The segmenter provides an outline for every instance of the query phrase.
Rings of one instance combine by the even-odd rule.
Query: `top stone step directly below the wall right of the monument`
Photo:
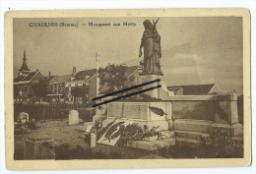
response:
[[[174,130],[209,133],[213,123],[206,120],[177,119],[174,121]]]

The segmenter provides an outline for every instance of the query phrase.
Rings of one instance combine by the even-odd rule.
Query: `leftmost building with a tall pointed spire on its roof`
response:
[[[19,70],[18,76],[14,79],[14,101],[30,102],[34,92],[32,87],[38,84],[41,78],[43,77],[38,70],[31,71],[29,69],[26,51],[24,50],[23,65]]]

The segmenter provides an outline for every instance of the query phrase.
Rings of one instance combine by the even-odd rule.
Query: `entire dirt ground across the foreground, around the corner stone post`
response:
[[[219,148],[213,146],[174,145],[160,150],[148,151],[130,147],[113,147],[109,145],[96,145],[90,147],[89,140],[82,137],[78,128],[84,128],[83,123],[75,126],[68,125],[68,120],[48,120],[36,124],[36,129],[28,135],[15,136],[14,159],[24,159],[24,140],[28,137],[50,137],[55,141],[55,159],[137,159],[137,158],[219,158],[242,157],[242,149],[238,155],[224,156]],[[221,154],[221,155],[220,155]]]

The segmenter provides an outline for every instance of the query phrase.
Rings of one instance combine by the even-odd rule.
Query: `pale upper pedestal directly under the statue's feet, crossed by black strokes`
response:
[[[148,94],[155,98],[160,98],[162,100],[169,100],[169,96],[173,96],[174,93],[172,91],[169,91],[166,87],[166,80],[161,75],[140,75],[137,77],[137,84],[144,84],[150,81],[154,81],[160,79],[159,83],[154,83],[145,87],[142,87],[143,89],[149,88],[149,87],[156,87],[158,85],[161,85],[160,88],[156,88],[147,92],[144,92],[145,94]]]

